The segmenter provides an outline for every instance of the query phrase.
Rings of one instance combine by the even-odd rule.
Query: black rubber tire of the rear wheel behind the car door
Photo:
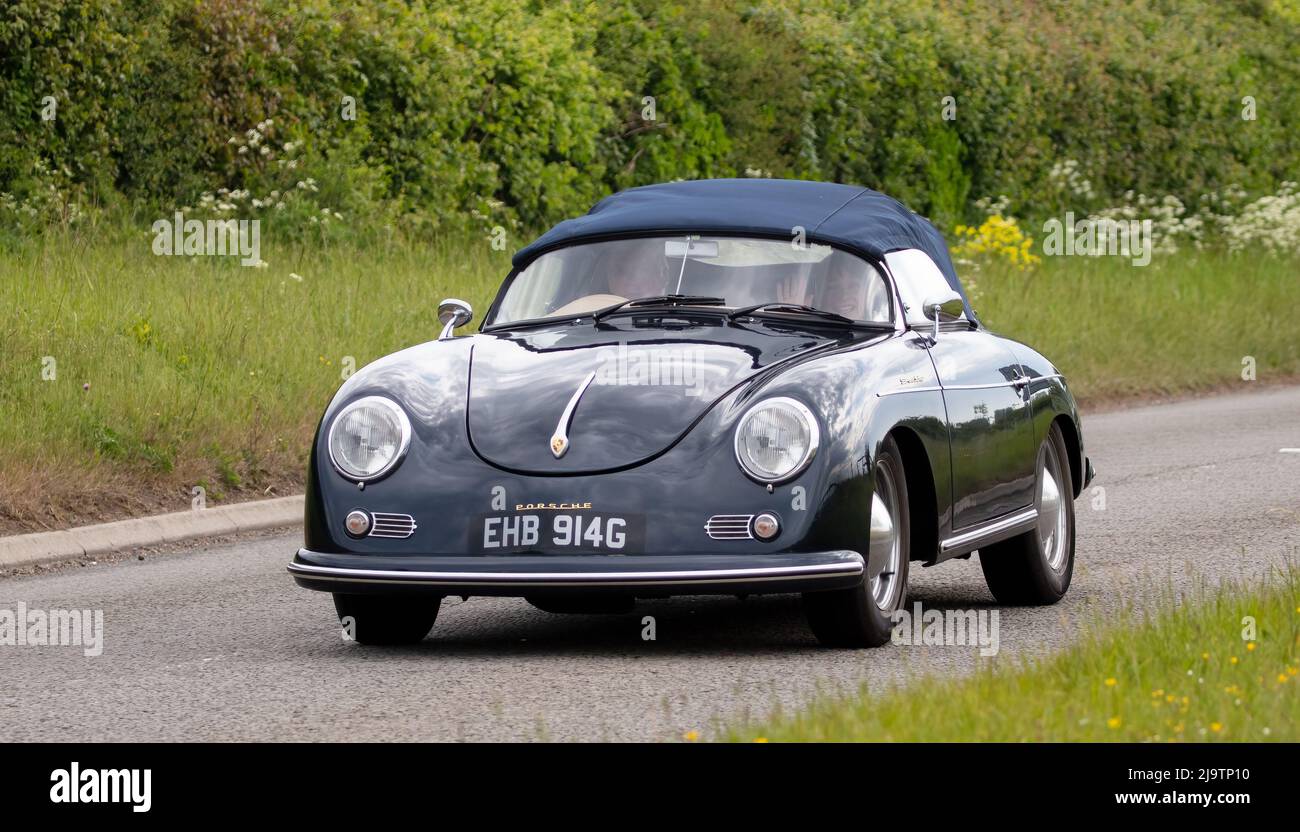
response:
[[[1034,486],[1034,507],[1039,512],[1044,511],[1045,472],[1056,482],[1058,516],[1063,519],[1065,529],[1061,532],[1060,525],[1048,523],[1040,514],[1040,523],[1034,529],[1000,543],[980,546],[979,564],[998,603],[1052,604],[1061,601],[1070,589],[1070,578],[1074,576],[1074,480],[1065,437],[1056,422],[1039,447]],[[1052,530],[1045,532],[1044,524],[1052,526]],[[1065,543],[1063,552],[1056,549],[1057,536]],[[1057,552],[1056,563],[1049,551]]]

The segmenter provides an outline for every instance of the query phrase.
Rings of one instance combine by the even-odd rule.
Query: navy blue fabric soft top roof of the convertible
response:
[[[606,196],[581,217],[566,220],[515,252],[516,269],[542,252],[618,237],[724,234],[790,239],[802,228],[809,242],[883,260],[918,248],[962,295],[948,244],[924,217],[871,188],[801,179],[696,179],[647,185]]]

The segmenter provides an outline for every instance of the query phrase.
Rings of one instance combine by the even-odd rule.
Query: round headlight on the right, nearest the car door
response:
[[[760,402],[736,425],[736,459],[759,482],[783,482],[803,471],[816,443],[816,419],[794,399]]]

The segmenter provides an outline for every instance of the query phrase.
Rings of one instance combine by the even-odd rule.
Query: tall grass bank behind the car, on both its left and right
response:
[[[242,268],[155,256],[142,226],[0,255],[0,530],[179,510],[195,485],[212,499],[299,488],[347,356],[360,368],[436,337],[445,296],[481,315],[510,268],[486,238],[382,233],[264,244],[270,265]],[[1297,270],[1197,254],[1147,268],[1048,259],[979,274],[976,306],[1086,400],[1196,390],[1238,380],[1248,355],[1260,378],[1300,372]]]

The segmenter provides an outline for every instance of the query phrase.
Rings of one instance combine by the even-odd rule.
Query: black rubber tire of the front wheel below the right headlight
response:
[[[898,534],[898,564],[890,580],[897,584],[881,608],[872,593],[871,581],[863,578],[853,589],[803,593],[803,614],[816,640],[828,647],[879,647],[893,632],[893,614],[907,603],[907,566],[911,555],[911,524],[907,514],[907,480],[902,454],[893,437],[887,437],[876,460],[876,480],[881,471],[890,477],[897,498],[894,528]],[[866,512],[863,512],[866,514]]]

